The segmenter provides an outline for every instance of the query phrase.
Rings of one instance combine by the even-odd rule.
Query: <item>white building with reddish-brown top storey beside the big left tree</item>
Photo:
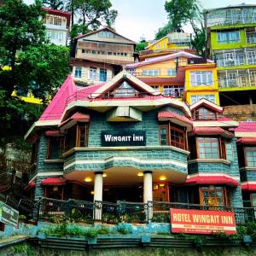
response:
[[[67,45],[70,28],[71,14],[55,9],[44,9],[47,14],[44,19],[46,36],[50,43],[57,45]]]

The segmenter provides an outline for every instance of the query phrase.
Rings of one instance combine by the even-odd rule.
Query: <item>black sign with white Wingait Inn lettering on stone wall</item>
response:
[[[145,131],[102,131],[102,147],[146,146]]]

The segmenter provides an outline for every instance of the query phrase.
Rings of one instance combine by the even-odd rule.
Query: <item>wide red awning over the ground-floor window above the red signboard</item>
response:
[[[228,185],[237,187],[238,182],[235,178],[222,173],[200,173],[195,175],[188,175],[185,182],[186,185]]]

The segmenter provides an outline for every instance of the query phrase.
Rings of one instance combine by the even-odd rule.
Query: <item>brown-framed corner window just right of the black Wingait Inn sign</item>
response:
[[[176,148],[186,148],[185,132],[177,127],[160,125],[160,145],[171,145]]]

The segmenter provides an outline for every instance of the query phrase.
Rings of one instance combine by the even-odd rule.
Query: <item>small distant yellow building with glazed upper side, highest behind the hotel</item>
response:
[[[191,34],[171,32],[164,38],[154,40],[152,43],[148,44],[146,49],[139,52],[139,60],[144,61],[146,58],[168,55],[179,50],[195,53],[195,49],[191,49]]]

